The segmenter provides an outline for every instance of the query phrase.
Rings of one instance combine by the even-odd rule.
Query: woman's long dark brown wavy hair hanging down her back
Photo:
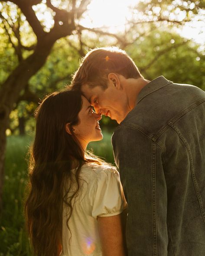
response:
[[[84,154],[72,133],[72,126],[79,123],[81,106],[81,93],[64,90],[46,96],[35,112],[36,136],[30,149],[25,215],[33,251],[37,256],[59,255],[63,203],[68,207],[68,226],[72,200],[79,190],[81,166],[86,162],[102,162],[97,157]],[[72,134],[65,130],[67,123],[70,123]],[[75,175],[72,169],[76,169]],[[77,188],[70,196],[69,188],[74,182]]]

